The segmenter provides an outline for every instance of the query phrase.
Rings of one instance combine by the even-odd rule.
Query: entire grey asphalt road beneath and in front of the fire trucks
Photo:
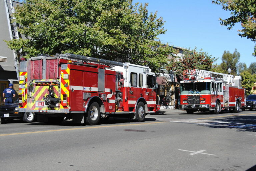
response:
[[[0,124],[0,170],[256,170],[256,111]]]

